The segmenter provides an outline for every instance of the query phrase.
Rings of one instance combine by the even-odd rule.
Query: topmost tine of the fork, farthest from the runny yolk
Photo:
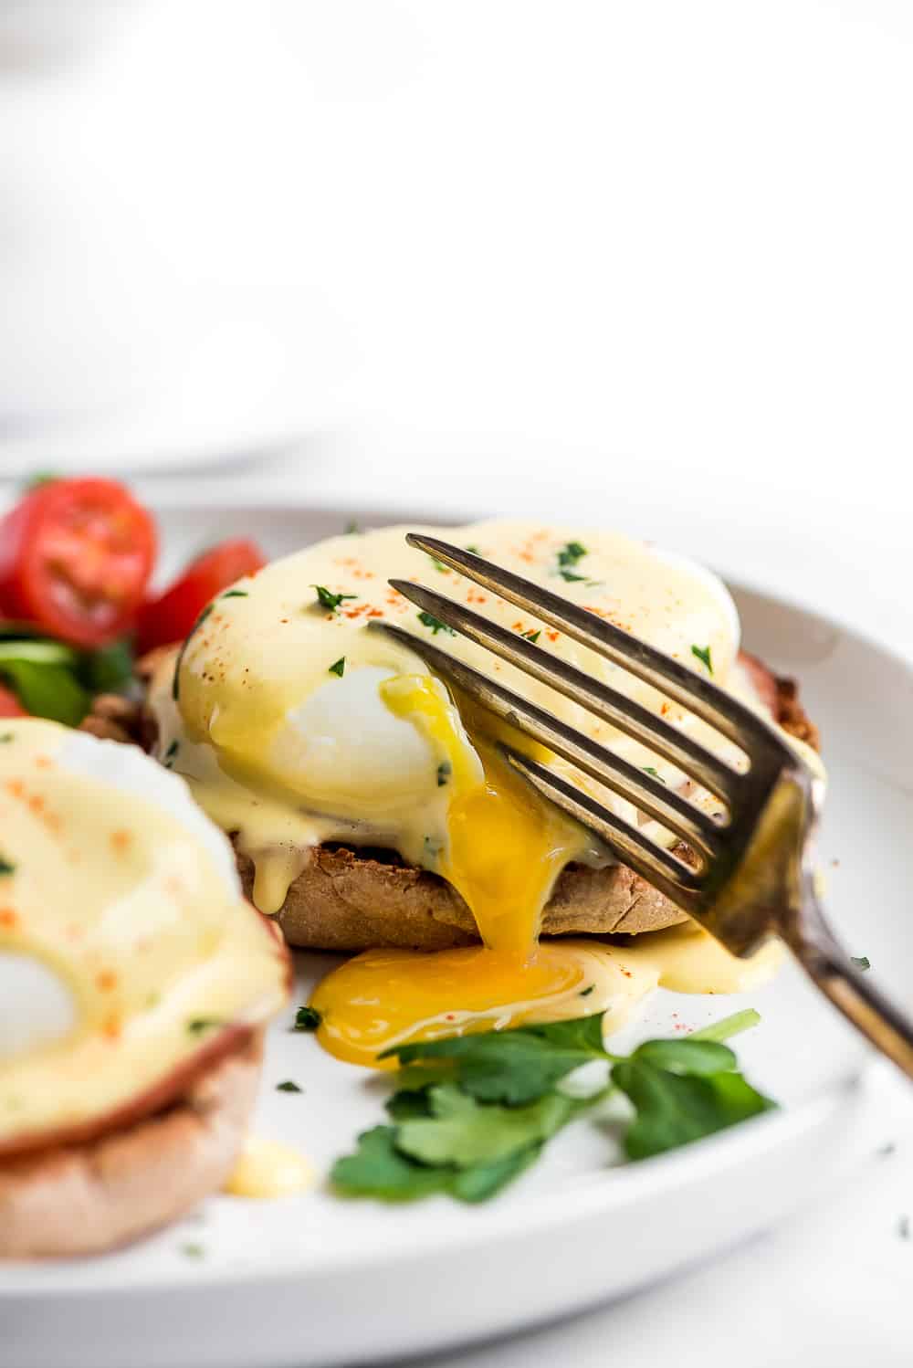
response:
[[[768,739],[764,721],[738,699],[718,688],[712,680],[701,679],[679,661],[671,659],[636,636],[629,636],[614,622],[605,622],[596,617],[589,609],[570,603],[560,595],[552,594],[551,590],[543,588],[541,584],[533,584],[530,580],[514,575],[513,570],[504,570],[472,551],[451,546],[450,542],[441,542],[420,532],[409,532],[406,540],[420,551],[425,551],[441,564],[450,565],[451,569],[466,575],[492,594],[515,603],[517,607],[533,611],[543,622],[548,622],[560,632],[567,632],[582,646],[588,646],[612,663],[637,674],[660,694],[674,698],[689,713],[697,713],[737,746],[748,748],[753,740]]]

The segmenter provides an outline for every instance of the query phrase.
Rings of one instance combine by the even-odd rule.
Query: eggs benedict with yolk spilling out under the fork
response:
[[[364,1063],[421,1034],[629,1001],[630,955],[540,936],[640,934],[682,922],[529,791],[499,757],[496,724],[451,696],[420,648],[379,624],[407,628],[417,647],[433,640],[693,802],[716,804],[610,724],[417,613],[391,577],[433,581],[741,759],[634,676],[407,546],[406,531],[333,538],[239,580],[163,665],[149,699],[159,758],[232,836],[256,906],[277,917],[291,944],[366,951],[331,974],[313,1003],[323,1042]],[[611,532],[515,521],[424,531],[563,594],[776,715],[776,684],[741,657],[733,599],[703,568]],[[596,781],[575,770],[573,778],[641,821]],[[660,978],[645,970],[648,986]]]

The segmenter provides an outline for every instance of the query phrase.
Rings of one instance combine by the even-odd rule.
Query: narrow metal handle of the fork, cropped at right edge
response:
[[[828,926],[813,886],[780,934],[805,973],[883,1055],[913,1078],[913,1021],[850,960]]]

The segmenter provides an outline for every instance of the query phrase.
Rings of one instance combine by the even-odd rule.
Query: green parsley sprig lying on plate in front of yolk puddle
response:
[[[359,1135],[355,1152],[333,1164],[331,1182],[340,1193],[387,1201],[431,1193],[484,1201],[610,1093],[623,1093],[633,1108],[622,1135],[629,1159],[690,1144],[775,1105],[738,1073],[723,1044],[757,1021],[757,1012],[737,1012],[686,1037],[648,1040],[630,1055],[605,1049],[601,1014],[400,1045],[387,1051],[400,1066],[387,1101],[392,1124]],[[562,1086],[593,1062],[608,1070],[596,1090],[581,1097]]]

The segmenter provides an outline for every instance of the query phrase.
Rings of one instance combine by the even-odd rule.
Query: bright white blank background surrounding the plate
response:
[[[0,85],[0,469],[112,413],[146,465],[282,445],[260,492],[615,521],[913,653],[913,5],[145,0],[45,67]],[[828,1211],[446,1363],[909,1363],[884,1096]]]

